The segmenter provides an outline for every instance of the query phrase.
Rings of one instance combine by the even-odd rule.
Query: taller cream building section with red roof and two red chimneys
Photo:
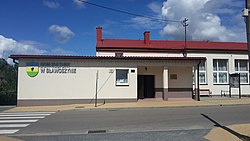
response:
[[[205,57],[206,61],[201,61],[199,65],[201,95],[229,94],[229,75],[234,73],[240,74],[241,94],[250,94],[246,43],[187,41],[185,46],[184,41],[150,40],[150,32],[144,33],[144,40],[103,39],[102,28],[98,27],[96,55]],[[182,68],[173,68],[173,72],[179,70]],[[194,70],[195,68],[193,73]],[[169,72],[169,75],[173,72]],[[181,83],[179,84],[181,86]],[[238,89],[231,90],[232,95],[239,94]]]

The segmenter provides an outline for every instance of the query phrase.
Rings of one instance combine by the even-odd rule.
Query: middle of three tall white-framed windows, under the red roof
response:
[[[228,83],[228,67],[226,59],[213,60],[213,82],[215,84]]]

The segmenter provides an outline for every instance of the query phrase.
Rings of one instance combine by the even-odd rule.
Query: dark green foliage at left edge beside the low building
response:
[[[16,104],[17,67],[0,59],[0,105]]]

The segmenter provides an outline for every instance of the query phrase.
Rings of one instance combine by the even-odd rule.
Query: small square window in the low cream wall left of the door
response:
[[[116,85],[128,85],[128,69],[116,70]]]

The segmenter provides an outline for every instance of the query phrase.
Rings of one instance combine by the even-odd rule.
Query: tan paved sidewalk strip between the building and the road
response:
[[[95,107],[93,104],[71,104],[57,106],[25,106],[15,107],[5,112],[34,112],[34,111],[63,111],[76,109],[107,109],[107,108],[154,108],[154,107],[197,107],[197,106],[223,106],[249,104],[250,98],[201,98],[201,101],[143,101],[132,103],[98,103]]]

